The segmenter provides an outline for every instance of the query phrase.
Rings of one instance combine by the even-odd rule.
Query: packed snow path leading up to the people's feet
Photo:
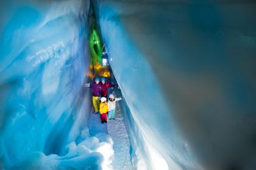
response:
[[[91,135],[99,133],[108,133],[113,140],[113,149],[115,151],[112,167],[115,170],[132,169],[130,158],[130,140],[124,125],[123,116],[119,104],[116,102],[115,120],[108,120],[108,123],[101,123],[99,114],[91,114],[89,130]]]

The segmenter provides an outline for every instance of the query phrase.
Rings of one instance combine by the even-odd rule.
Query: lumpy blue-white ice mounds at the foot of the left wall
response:
[[[42,152],[29,152],[13,162],[10,169],[112,169],[110,163],[113,155],[113,141],[107,134],[90,137],[84,129],[79,137],[80,143],[74,141],[66,147],[66,154],[44,155]]]

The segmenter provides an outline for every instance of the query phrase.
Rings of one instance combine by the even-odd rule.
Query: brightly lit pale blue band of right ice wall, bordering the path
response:
[[[132,143],[133,166],[137,169],[194,167],[194,157],[169,114],[171,110],[155,73],[121,20],[123,13],[131,13],[130,19],[136,18],[132,15],[134,7],[125,3],[126,9],[118,9],[115,3],[97,1],[94,7],[112,71],[126,101],[124,118]]]

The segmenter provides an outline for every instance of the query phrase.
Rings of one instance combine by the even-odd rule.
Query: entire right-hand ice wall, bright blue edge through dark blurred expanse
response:
[[[138,168],[165,165],[157,153],[169,169],[254,169],[255,3],[94,6],[130,110]]]

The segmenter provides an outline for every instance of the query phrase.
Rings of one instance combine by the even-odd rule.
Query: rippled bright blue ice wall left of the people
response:
[[[0,167],[88,125],[89,1],[0,2]]]

